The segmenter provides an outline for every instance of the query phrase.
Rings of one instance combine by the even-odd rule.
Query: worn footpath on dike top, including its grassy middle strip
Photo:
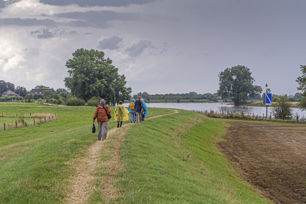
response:
[[[178,113],[178,110],[171,110],[173,113]],[[169,115],[169,113],[152,116],[145,120],[165,115]],[[89,199],[94,193],[102,196],[101,200],[106,202],[116,197],[118,192],[112,185],[112,181],[114,175],[118,173],[121,162],[121,144],[125,139],[125,133],[131,125],[138,124],[127,123],[120,128],[110,129],[105,141],[96,141],[88,148],[84,157],[69,163],[76,172],[69,181],[71,192],[67,198],[68,203],[90,203]],[[98,188],[96,188],[97,186]]]

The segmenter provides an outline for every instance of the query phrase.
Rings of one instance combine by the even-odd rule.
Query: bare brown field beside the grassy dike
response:
[[[221,152],[275,203],[306,203],[306,124],[229,121]]]

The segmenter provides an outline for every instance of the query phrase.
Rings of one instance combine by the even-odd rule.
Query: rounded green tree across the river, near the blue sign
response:
[[[223,99],[232,99],[235,105],[244,104],[248,97],[254,97],[263,91],[260,86],[253,85],[255,80],[251,74],[246,66],[226,68],[218,75],[218,95]]]

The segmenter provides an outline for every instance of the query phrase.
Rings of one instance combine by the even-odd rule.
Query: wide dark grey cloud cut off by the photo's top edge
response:
[[[41,3],[49,5],[66,6],[76,4],[81,7],[88,6],[127,6],[130,4],[147,4],[157,0],[40,0]]]

